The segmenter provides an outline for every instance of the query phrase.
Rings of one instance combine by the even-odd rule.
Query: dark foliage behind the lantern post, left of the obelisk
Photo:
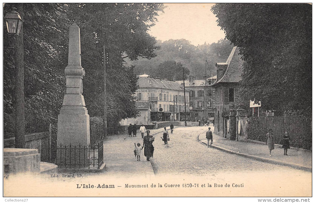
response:
[[[19,5],[5,3],[4,12]],[[57,129],[65,89],[64,67],[68,36],[67,6],[59,3],[23,3],[24,95],[26,133]],[[3,30],[6,25],[3,23]],[[3,104],[5,137],[14,136],[14,37],[3,32]]]

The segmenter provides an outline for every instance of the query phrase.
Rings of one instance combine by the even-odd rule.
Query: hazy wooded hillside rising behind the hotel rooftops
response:
[[[158,41],[157,45],[161,48],[154,51],[157,57],[148,59],[139,59],[127,63],[135,65],[136,74],[156,75],[156,69],[165,61],[180,62],[184,67],[190,70],[190,74],[196,76],[198,79],[203,79],[205,72],[205,58],[207,58],[209,68],[213,74],[216,72],[215,63],[225,62],[233,45],[228,40],[219,40],[217,43],[203,44],[194,46],[186,39],[173,40],[170,39],[165,42]]]

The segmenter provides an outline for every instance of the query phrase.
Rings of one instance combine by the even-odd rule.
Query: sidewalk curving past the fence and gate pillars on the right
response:
[[[213,126],[211,131],[213,131]],[[205,132],[200,134],[198,138],[201,143],[207,145]],[[284,156],[284,149],[275,145],[275,149],[271,152],[272,156],[269,156],[268,146],[265,144],[228,140],[214,133],[211,147],[259,161],[312,172],[312,152],[304,149],[288,149],[288,156]]]

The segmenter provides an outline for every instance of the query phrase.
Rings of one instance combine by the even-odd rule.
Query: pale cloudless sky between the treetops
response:
[[[211,12],[213,3],[164,3],[164,13],[149,34],[162,42],[169,39],[186,39],[193,45],[218,42],[225,37]]]

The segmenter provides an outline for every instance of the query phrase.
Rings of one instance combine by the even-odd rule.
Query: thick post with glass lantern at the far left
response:
[[[15,110],[15,148],[25,148],[25,111],[24,111],[24,54],[23,54],[23,3],[19,4],[18,12],[7,13],[4,20],[9,33],[15,39],[15,82],[14,82],[14,110]]]

